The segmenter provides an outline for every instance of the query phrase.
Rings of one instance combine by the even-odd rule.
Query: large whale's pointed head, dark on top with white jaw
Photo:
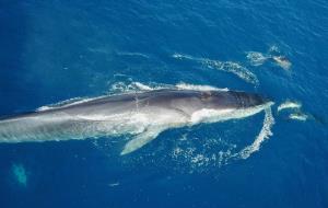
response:
[[[236,91],[192,91],[174,101],[175,108],[191,117],[191,122],[218,122],[243,118],[273,104],[255,93]]]

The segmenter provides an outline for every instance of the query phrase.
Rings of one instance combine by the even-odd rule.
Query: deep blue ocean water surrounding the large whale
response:
[[[172,86],[274,102],[125,157],[0,143],[1,207],[328,207],[327,1],[1,0],[0,23],[0,115]]]

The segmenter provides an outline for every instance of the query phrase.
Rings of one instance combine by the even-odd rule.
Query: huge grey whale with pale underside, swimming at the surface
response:
[[[0,119],[0,142],[131,135],[130,153],[169,128],[245,118],[273,103],[259,94],[162,89],[102,96]]]

